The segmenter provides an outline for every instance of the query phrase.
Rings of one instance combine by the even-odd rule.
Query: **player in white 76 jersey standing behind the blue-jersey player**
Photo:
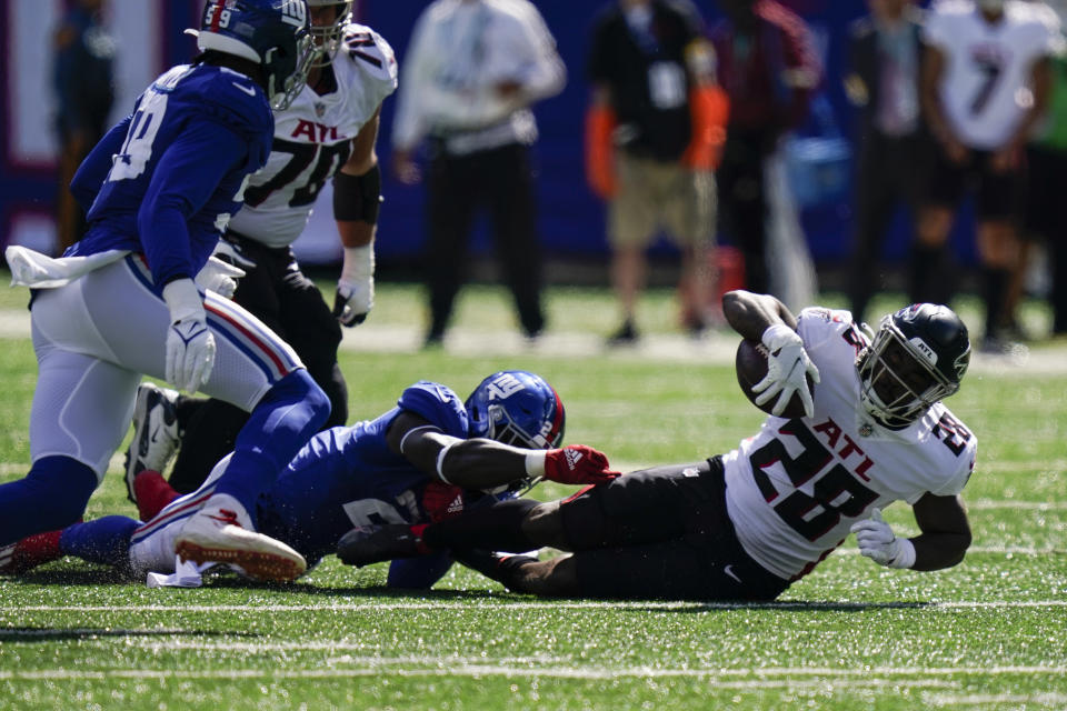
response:
[[[320,51],[307,86],[275,113],[275,140],[262,170],[245,191],[245,209],[230,221],[219,253],[247,273],[233,300],[282,337],[326,391],[331,413],[323,429],[345,424],[348,392],[337,364],[340,326],[360,323],[373,306],[373,238],[381,200],[375,142],[381,103],[397,88],[392,49],[351,19],[352,0],[310,0],[311,32]],[[300,271],[290,244],[300,236],[328,179],[345,261],[331,312]],[[177,404],[177,408],[176,408]],[[182,445],[171,484],[197,489],[233,447],[245,412],[221,400],[178,398],[144,383],[138,391],[127,487],[140,471],[161,470]],[[162,425],[162,437],[148,434]]]

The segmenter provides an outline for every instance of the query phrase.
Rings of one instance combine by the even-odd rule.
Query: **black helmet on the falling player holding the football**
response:
[[[857,357],[860,404],[887,428],[904,429],[959,390],[969,363],[960,318],[948,307],[915,303],[884,317]]]

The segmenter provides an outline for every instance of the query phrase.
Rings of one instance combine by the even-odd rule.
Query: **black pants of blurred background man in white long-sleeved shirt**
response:
[[[440,340],[448,328],[456,294],[466,278],[467,246],[479,208],[489,211],[501,276],[515,297],[522,331],[537,336],[545,327],[545,314],[527,147],[511,143],[462,156],[438,151],[430,161],[427,196],[428,340]]]

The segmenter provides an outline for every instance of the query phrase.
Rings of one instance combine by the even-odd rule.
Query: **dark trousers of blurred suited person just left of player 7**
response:
[[[907,211],[909,243],[915,241],[915,221],[933,151],[929,139],[918,133],[901,137],[876,130],[864,133],[856,166],[856,233],[848,279],[850,309],[856,321],[864,320],[871,297],[886,288],[885,273],[879,270],[881,247],[893,218],[901,208]]]

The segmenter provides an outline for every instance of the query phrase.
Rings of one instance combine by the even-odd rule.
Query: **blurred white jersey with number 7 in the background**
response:
[[[1034,102],[1034,63],[1061,51],[1059,19],[1040,2],[1008,0],[989,23],[971,0],[947,0],[928,16],[924,40],[945,57],[938,93],[956,136],[997,150]]]

